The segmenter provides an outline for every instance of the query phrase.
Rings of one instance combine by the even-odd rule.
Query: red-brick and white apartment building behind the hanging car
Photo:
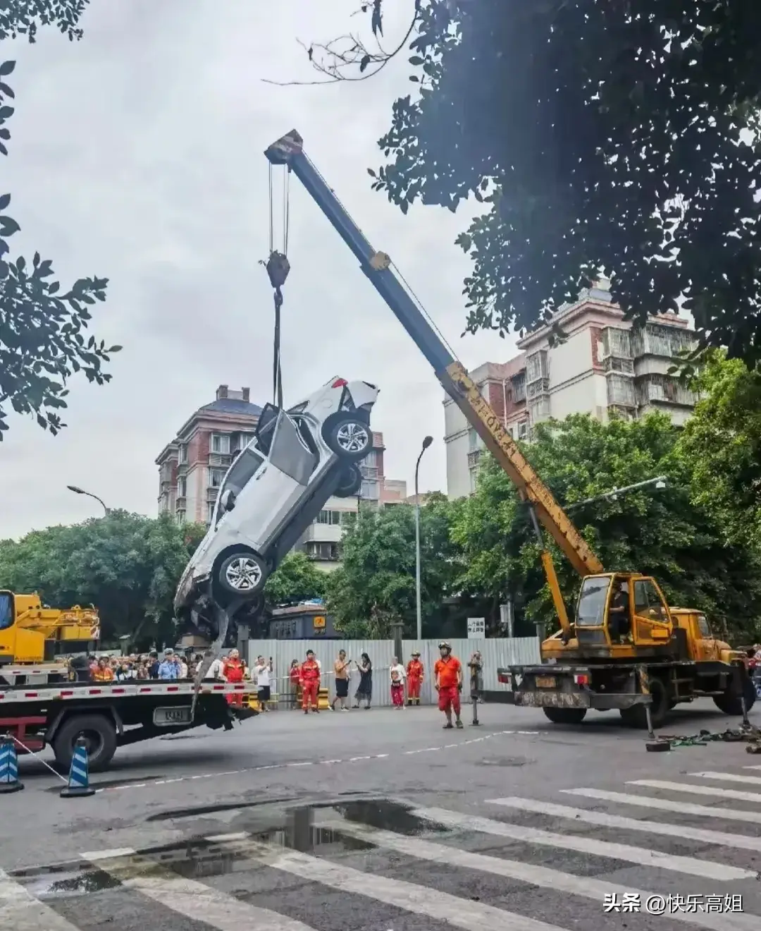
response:
[[[216,398],[195,411],[180,426],[177,436],[157,456],[159,512],[168,511],[178,523],[208,523],[214,512],[224,474],[237,452],[253,437],[261,408],[253,404],[248,388],[217,388]],[[329,498],[325,508],[302,535],[302,549],[318,568],[334,569],[340,559],[340,537],[346,515],[363,506],[404,501],[407,483],[386,479],[383,468],[383,434],[373,433],[373,448],[360,463],[362,489],[353,498]]]

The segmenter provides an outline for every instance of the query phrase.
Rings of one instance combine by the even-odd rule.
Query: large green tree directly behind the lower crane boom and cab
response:
[[[613,488],[667,477],[662,492],[621,495],[572,510],[584,538],[611,570],[652,574],[671,604],[697,607],[735,630],[754,626],[761,596],[761,564],[749,546],[729,544],[722,528],[692,499],[688,459],[678,430],[651,414],[633,423],[602,425],[576,414],[537,428],[527,447],[532,465],[570,506]],[[463,582],[495,597],[510,594],[527,619],[556,627],[539,546],[507,476],[488,457],[476,492],[462,506],[452,536],[464,551]],[[554,546],[561,588],[573,611],[578,578]]]

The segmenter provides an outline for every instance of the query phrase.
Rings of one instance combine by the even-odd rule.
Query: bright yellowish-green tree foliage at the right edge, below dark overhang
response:
[[[761,372],[714,353],[695,387],[701,400],[679,441],[694,500],[726,540],[761,547]]]

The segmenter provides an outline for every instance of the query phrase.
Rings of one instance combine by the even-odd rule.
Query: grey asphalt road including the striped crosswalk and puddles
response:
[[[737,723],[711,709],[668,732]],[[22,759],[25,790],[0,796],[0,928],[761,928],[760,756],[647,753],[611,714],[480,717],[272,712],[121,750],[85,799]],[[634,911],[606,911],[624,894]]]

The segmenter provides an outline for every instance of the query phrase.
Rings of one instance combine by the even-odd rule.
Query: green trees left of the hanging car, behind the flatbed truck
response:
[[[0,541],[0,588],[37,591],[51,607],[94,604],[103,641],[172,641],[172,600],[205,533],[126,511]]]

